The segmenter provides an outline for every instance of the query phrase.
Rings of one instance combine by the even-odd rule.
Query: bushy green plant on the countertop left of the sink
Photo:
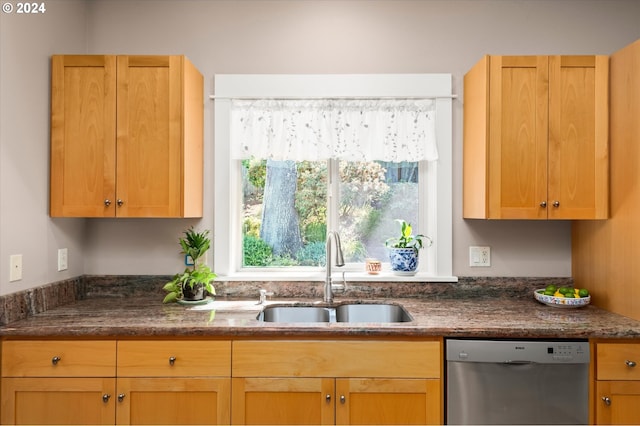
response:
[[[205,300],[207,293],[215,295],[213,280],[216,274],[204,263],[203,256],[211,247],[209,231],[196,232],[193,227],[184,231],[184,237],[178,239],[181,253],[191,258],[192,266],[184,272],[176,274],[166,283],[163,290],[167,292],[163,303],[197,302]]]

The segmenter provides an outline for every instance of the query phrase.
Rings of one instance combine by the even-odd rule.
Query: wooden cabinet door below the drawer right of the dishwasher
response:
[[[596,423],[640,424],[640,381],[597,381]]]

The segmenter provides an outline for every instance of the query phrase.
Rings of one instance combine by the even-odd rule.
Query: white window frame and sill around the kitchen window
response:
[[[434,98],[436,100],[437,161],[421,161],[420,229],[434,244],[423,250],[415,276],[390,271],[371,276],[348,268],[350,281],[457,281],[452,275],[452,101],[451,74],[217,74],[214,155],[214,270],[220,280],[320,281],[324,268],[241,268],[241,162],[232,160],[229,120],[233,98]],[[429,208],[433,206],[434,208]],[[329,226],[331,223],[328,224]],[[330,229],[330,228],[328,228]],[[384,259],[383,259],[384,261]],[[341,274],[341,268],[334,268]]]

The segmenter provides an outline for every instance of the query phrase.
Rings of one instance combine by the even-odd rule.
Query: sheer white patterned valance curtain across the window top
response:
[[[231,157],[434,161],[432,99],[232,100]]]

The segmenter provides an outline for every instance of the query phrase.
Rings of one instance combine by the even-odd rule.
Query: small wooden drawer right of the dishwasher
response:
[[[596,351],[598,380],[640,380],[640,344],[600,343]]]

